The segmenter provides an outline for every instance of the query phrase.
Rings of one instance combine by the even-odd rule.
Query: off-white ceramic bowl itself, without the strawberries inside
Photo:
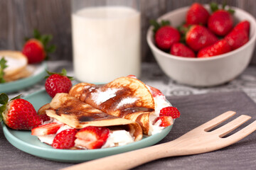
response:
[[[188,8],[189,6],[166,13],[157,21],[169,20],[171,26],[180,26],[185,21]],[[209,6],[206,6],[206,8],[209,8]],[[151,26],[147,31],[146,40],[164,73],[171,79],[190,86],[215,86],[238,77],[250,63],[255,48],[256,22],[250,13],[240,8],[232,8],[235,10],[236,23],[242,20],[250,22],[250,40],[242,47],[223,55],[208,58],[187,58],[163,52],[154,44],[154,33]]]

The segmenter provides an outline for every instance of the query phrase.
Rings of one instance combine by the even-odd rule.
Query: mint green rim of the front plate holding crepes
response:
[[[32,94],[28,94],[27,96],[25,96],[23,98],[24,99],[31,98],[33,96],[40,95],[41,93],[46,93],[46,90],[42,89],[42,90],[33,92]],[[54,148],[41,147],[41,146],[38,146],[38,145],[33,145],[31,143],[28,143],[26,141],[23,141],[23,140],[19,139],[16,135],[14,135],[12,133],[12,131],[19,133],[19,132],[26,132],[26,130],[21,130],[21,131],[12,130],[11,128],[8,128],[2,122],[4,135],[5,135],[6,139],[11,143],[11,145],[14,145],[14,147],[20,149],[21,151],[26,152],[28,154],[32,154],[36,157],[41,157],[41,158],[44,158],[44,159],[50,159],[50,160],[58,161],[58,162],[84,162],[84,161],[87,161],[87,160],[92,160],[92,159],[97,159],[97,158],[100,158],[100,157],[110,156],[112,154],[119,154],[119,153],[123,153],[123,152],[129,152],[129,151],[132,151],[134,149],[149,147],[151,145],[156,144],[157,142],[160,142],[162,139],[164,139],[164,137],[166,137],[166,135],[168,135],[169,132],[171,131],[171,128],[173,127],[173,125],[165,128],[164,130],[162,130],[159,133],[156,133],[156,134],[151,135],[149,137],[145,137],[142,140],[139,140],[137,142],[132,142],[128,145],[123,145],[123,146],[119,146],[119,147],[102,148],[102,149],[74,149],[73,150],[73,149],[54,149]],[[27,132],[30,132],[30,131],[27,130]],[[33,137],[33,136],[31,135],[31,137]],[[36,140],[38,140],[38,139],[36,139]],[[31,153],[31,151],[29,151],[30,149],[36,149],[36,151],[41,151],[41,152],[44,152],[44,153],[41,154],[41,155],[36,153],[36,152]],[[82,158],[82,159],[72,159],[72,160],[71,159],[67,160],[66,158],[65,159],[63,159],[63,158],[55,158],[54,159],[53,157],[44,156],[46,154],[72,154],[72,155],[76,155],[76,154],[78,154],[78,155],[96,154],[96,158],[92,157],[92,159]],[[99,154],[101,155],[100,157],[99,157]]]

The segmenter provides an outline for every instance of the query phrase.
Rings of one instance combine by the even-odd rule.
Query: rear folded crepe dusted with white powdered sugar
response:
[[[154,98],[142,81],[120,77],[105,85],[80,83],[69,94],[102,112],[133,120],[149,135],[149,116],[154,114]]]

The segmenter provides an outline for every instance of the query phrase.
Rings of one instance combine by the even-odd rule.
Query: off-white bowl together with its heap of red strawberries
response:
[[[190,86],[216,86],[238,77],[255,48],[255,18],[218,4],[178,8],[151,21],[146,40],[164,73]]]

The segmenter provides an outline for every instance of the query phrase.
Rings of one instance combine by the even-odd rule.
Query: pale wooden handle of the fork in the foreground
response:
[[[162,157],[166,157],[167,153],[163,152],[163,146],[154,145],[152,147],[146,147],[143,149],[137,149],[131,152],[125,152],[122,154],[115,154],[110,157],[104,157],[96,159],[90,162],[82,164],[76,164],[69,166],[62,170],[80,170],[80,169],[94,169],[94,170],[112,170],[112,169],[132,169],[146,162],[153,161]],[[166,148],[170,150],[171,148]],[[170,153],[169,153],[170,154]],[[168,154],[168,156],[170,156]]]

